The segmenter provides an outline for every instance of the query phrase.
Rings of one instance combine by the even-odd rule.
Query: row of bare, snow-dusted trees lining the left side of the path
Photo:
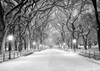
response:
[[[49,4],[46,3],[46,1],[1,0],[0,3],[2,5],[2,10],[4,10],[2,13],[5,13],[4,15],[2,14],[4,23],[1,23],[4,24],[5,27],[1,31],[4,34],[0,33],[2,34],[0,46],[1,52],[2,49],[5,48],[6,37],[9,34],[13,34],[16,38],[15,43],[16,46],[18,46],[16,48],[18,48],[19,51],[22,50],[22,46],[25,43],[27,43],[25,45],[28,45],[26,47],[31,47],[30,44],[32,43],[33,35],[35,35],[36,38],[39,38],[42,43],[41,37],[43,36],[47,19],[49,18],[48,13],[52,9],[45,8],[49,7]],[[35,23],[32,22],[34,19]]]

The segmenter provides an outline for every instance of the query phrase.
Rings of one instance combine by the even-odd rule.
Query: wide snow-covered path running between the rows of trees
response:
[[[77,53],[48,49],[3,62],[0,71],[100,71],[100,63]]]

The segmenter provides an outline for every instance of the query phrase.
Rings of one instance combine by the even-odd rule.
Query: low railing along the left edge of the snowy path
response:
[[[11,59],[16,59],[21,56],[27,56],[32,53],[32,51],[12,52],[10,54],[11,58],[9,58],[9,53],[0,54],[0,63]]]

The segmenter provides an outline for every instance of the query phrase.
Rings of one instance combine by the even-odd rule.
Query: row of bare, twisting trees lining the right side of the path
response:
[[[83,43],[80,44],[84,44],[85,49],[87,49],[87,45],[91,47],[91,44],[97,43],[97,24],[91,1],[77,0],[69,9],[59,7],[57,9],[55,12],[58,19],[56,28],[59,27],[60,29],[58,31],[61,33],[62,42],[67,42],[69,45],[73,39],[78,41],[81,38]],[[71,37],[68,37],[68,32]],[[68,39],[66,40],[66,38]]]

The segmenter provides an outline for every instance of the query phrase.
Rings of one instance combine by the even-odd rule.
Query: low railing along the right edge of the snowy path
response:
[[[100,52],[81,50],[79,54],[84,57],[100,60]]]

